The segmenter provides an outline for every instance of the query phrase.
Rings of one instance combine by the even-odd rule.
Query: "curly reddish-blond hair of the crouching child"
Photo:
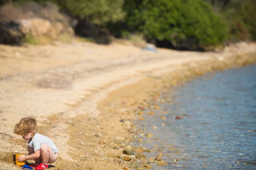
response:
[[[26,136],[32,131],[33,135],[38,132],[36,119],[34,117],[24,117],[15,125],[13,133]]]

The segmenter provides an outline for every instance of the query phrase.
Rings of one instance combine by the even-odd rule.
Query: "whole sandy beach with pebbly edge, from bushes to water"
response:
[[[256,44],[245,42],[218,53],[117,43],[0,45],[0,169],[21,169],[12,154],[26,154],[27,143],[13,128],[25,116],[34,116],[60,151],[51,170],[150,169],[160,161],[123,153],[147,151],[130,143],[138,141],[132,120],[143,120],[148,101],[191,78],[255,62]]]

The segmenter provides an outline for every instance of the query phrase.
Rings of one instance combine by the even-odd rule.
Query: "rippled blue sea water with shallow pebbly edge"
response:
[[[199,77],[159,101],[168,98],[137,122],[154,134],[138,136],[137,146],[152,150],[147,157],[163,153],[168,163],[154,169],[256,169],[256,65]]]

